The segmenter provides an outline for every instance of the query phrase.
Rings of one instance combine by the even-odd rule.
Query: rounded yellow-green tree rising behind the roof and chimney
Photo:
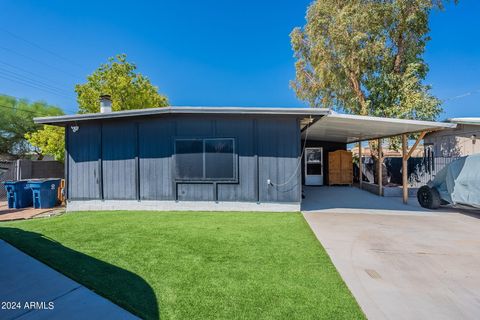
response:
[[[80,113],[99,112],[98,99],[102,94],[112,97],[114,111],[167,106],[167,98],[136,69],[125,54],[109,58],[108,63],[88,76],[86,83],[75,86]]]

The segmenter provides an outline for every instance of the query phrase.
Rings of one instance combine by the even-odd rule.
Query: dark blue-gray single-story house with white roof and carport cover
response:
[[[72,211],[298,211],[302,181],[326,183],[328,152],[359,140],[454,126],[312,108],[112,112],[105,97],[100,113],[35,122],[67,129]]]

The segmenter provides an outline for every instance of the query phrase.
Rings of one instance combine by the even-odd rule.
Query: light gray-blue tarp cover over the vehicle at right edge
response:
[[[480,154],[455,160],[429,182],[451,204],[480,208]]]

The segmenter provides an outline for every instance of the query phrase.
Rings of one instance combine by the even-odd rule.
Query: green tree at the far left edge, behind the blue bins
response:
[[[25,99],[0,95],[0,156],[18,158],[32,152],[25,134],[40,128],[33,123],[33,118],[61,114],[60,108],[45,102],[30,103]]]

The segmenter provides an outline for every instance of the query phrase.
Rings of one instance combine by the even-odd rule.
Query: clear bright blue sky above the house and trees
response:
[[[0,92],[75,112],[73,87],[128,54],[172,105],[302,106],[289,33],[310,1],[0,2]],[[427,83],[441,119],[480,116],[480,2],[435,12]],[[25,41],[26,40],[26,41]]]

